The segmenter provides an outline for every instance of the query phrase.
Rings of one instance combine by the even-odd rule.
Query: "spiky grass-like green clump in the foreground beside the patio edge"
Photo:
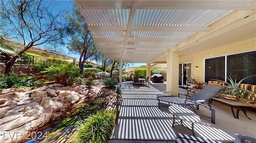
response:
[[[73,143],[106,143],[116,121],[116,110],[103,110],[90,116],[74,133]]]

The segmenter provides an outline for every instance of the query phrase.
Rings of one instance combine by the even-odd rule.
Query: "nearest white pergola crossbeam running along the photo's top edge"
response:
[[[132,0],[75,0],[83,9],[129,9]],[[140,0],[138,9],[251,10],[255,0]]]

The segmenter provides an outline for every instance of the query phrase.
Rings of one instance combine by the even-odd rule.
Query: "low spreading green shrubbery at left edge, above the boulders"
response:
[[[26,76],[19,77],[17,74],[9,74],[1,76],[0,90],[6,88],[34,88],[35,86],[41,86],[44,84],[44,80],[38,80],[38,76]]]

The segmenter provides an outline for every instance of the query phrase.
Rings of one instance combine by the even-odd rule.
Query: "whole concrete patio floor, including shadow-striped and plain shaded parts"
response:
[[[123,102],[108,143],[173,143],[176,132],[192,135],[189,129],[181,125],[172,128],[172,115],[164,107],[158,109],[156,95],[166,89],[166,84],[133,87],[129,82],[122,82],[121,88]],[[187,93],[182,88],[180,92]],[[197,137],[224,142],[234,142],[234,133],[256,137],[255,110],[247,111],[250,120],[243,112],[240,112],[239,119],[234,118],[230,107],[218,102],[213,102],[212,108],[216,110],[216,124],[208,118],[201,118],[202,121],[194,125]],[[210,115],[206,108],[200,108],[199,113]],[[191,123],[185,124],[191,127]]]

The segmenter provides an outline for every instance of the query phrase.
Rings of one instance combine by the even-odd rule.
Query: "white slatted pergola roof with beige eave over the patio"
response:
[[[239,23],[248,14],[244,11],[251,10],[255,15],[255,0],[75,2],[91,30],[96,47],[110,59],[119,61],[120,65],[166,63],[170,49],[186,55],[255,34],[255,18]],[[234,12],[239,15],[230,16]],[[216,22],[223,24],[214,25]],[[226,30],[229,26],[232,28]],[[232,34],[234,31],[237,33]]]

